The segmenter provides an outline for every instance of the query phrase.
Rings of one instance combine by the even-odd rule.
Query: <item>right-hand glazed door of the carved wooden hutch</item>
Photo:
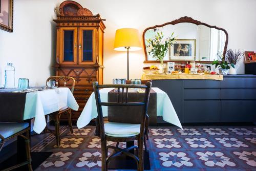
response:
[[[79,63],[95,63],[95,29],[80,28],[79,30]]]

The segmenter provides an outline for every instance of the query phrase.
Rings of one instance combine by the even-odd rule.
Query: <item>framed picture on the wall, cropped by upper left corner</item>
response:
[[[13,31],[13,0],[0,0],[0,28]]]

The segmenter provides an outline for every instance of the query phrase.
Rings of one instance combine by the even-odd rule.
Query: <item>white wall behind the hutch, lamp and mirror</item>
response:
[[[52,19],[58,0],[15,0],[14,32],[0,30],[0,69],[13,62],[16,78],[30,79],[32,86],[42,86],[51,74],[55,59],[55,29]],[[190,16],[227,30],[228,48],[256,51],[256,6],[254,0],[79,0],[83,7],[106,19],[104,37],[104,82],[126,77],[126,53],[113,50],[115,30],[143,30],[182,16]],[[140,78],[144,51],[130,53],[130,78]],[[241,61],[240,63],[243,63]],[[244,66],[238,73],[244,73]],[[0,83],[1,84],[1,83]]]

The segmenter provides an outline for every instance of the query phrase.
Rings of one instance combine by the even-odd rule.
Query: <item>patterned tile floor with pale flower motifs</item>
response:
[[[100,170],[95,127],[61,127],[61,146],[52,135],[35,135],[33,152],[53,152],[36,170]],[[108,142],[108,144],[114,144]],[[125,144],[119,144],[124,146]],[[151,170],[256,170],[256,126],[150,127]]]

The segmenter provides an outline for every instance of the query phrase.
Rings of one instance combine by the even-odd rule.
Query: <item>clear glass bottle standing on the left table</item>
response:
[[[15,68],[12,63],[5,67],[5,88],[15,88]]]

